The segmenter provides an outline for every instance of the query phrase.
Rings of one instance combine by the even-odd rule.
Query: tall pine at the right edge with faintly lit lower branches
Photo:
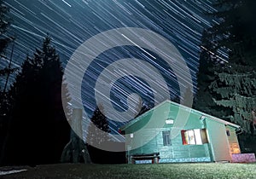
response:
[[[231,110],[226,117],[250,133],[250,125],[254,123],[252,111],[256,107],[255,66],[252,66],[256,58],[256,53],[252,50],[256,47],[256,38],[253,33],[248,32],[252,24],[247,22],[243,12],[252,4],[256,7],[256,3],[251,0],[222,3],[230,9],[217,14],[223,22],[214,26],[212,32],[217,39],[218,49],[229,49],[229,62],[218,66],[210,89],[214,102],[226,110]]]

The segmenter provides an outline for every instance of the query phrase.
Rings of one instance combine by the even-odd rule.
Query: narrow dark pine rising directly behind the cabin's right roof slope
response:
[[[205,30],[201,38],[200,66],[197,73],[197,92],[193,108],[218,118],[224,118],[228,115],[229,110],[216,105],[212,96],[214,94],[209,86],[216,77],[215,71],[221,68],[218,66],[223,66],[223,63],[218,59],[217,43],[212,39],[212,32]]]

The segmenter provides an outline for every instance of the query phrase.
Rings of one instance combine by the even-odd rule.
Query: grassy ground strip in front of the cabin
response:
[[[40,165],[34,168],[26,168],[28,169],[27,171],[0,176],[0,178],[256,178],[256,164],[61,164]]]

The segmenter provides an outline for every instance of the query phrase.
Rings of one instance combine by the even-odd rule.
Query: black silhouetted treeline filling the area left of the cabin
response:
[[[14,43],[14,39],[8,36],[11,21],[9,8],[3,5],[3,1],[0,4],[0,52],[1,64],[4,64],[3,61],[6,63],[10,60],[5,51]],[[8,63],[0,70],[0,165],[90,163],[90,158],[91,162],[98,164],[125,163],[125,152],[106,152],[93,146],[88,146],[88,159],[80,156],[84,150],[87,151],[87,145],[71,131],[67,122],[62,100],[67,104],[69,95],[65,85],[62,85],[61,61],[49,36],[44,38],[41,48],[26,57],[16,72]],[[7,77],[12,72],[15,72],[15,82],[6,88],[2,84],[9,83]],[[64,93],[61,94],[61,90]],[[64,108],[66,112],[69,111],[68,114],[72,113],[72,109]],[[99,108],[96,108],[91,122],[99,129],[110,132],[108,119]],[[90,127],[88,131],[91,131]],[[96,137],[96,142],[109,141],[108,135],[91,134]],[[88,140],[91,138],[88,137]]]

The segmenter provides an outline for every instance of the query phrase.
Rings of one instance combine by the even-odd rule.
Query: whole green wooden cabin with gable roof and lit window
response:
[[[131,163],[231,161],[240,153],[240,126],[164,101],[122,126]]]

